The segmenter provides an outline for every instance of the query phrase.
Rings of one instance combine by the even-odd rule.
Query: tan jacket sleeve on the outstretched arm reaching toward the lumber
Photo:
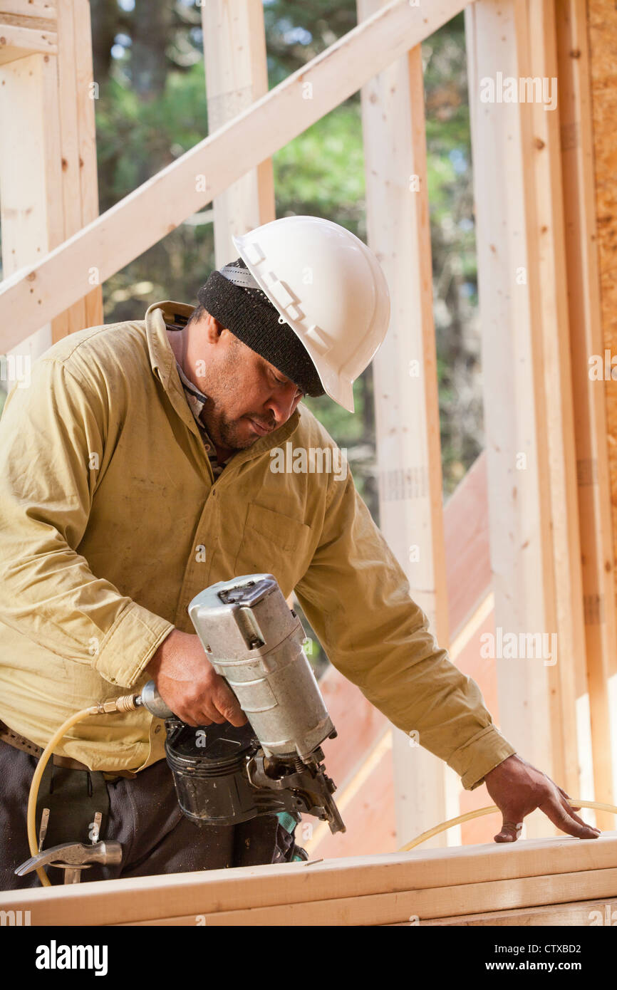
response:
[[[330,479],[328,498],[298,601],[334,666],[472,790],[515,749],[493,725],[477,684],[429,632],[350,472],[345,481]]]

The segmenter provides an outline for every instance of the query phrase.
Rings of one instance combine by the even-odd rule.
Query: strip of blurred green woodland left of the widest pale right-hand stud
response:
[[[444,489],[483,445],[464,18],[422,46]]]

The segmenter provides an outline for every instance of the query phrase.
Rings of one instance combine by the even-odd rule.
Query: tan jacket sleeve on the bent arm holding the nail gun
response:
[[[0,617],[52,652],[132,687],[171,623],[92,573],[88,523],[109,410],[59,360],[14,386],[0,419]]]

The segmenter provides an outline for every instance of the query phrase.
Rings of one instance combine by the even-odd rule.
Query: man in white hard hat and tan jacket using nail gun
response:
[[[7,400],[2,885],[16,885],[13,870],[29,855],[38,747],[72,712],[137,693],[154,677],[190,725],[245,724],[186,608],[210,584],[258,571],[273,573],[285,596],[295,589],[331,661],[369,701],[418,733],[465,788],[486,783],[503,814],[496,841],[515,841],[537,807],[569,835],[595,838],[565,792],[503,739],[477,685],[437,646],[351,474],[273,469],[289,444],[313,464],[320,451],[322,463],[324,453],[337,461],[300,400],[326,392],[353,410],[353,381],[389,320],[376,258],[313,217],[234,242],[241,257],[211,273],[196,309],[157,303],[144,321],[72,334],[35,363],[31,388]],[[44,777],[46,846],[83,840],[99,810],[123,861],[93,867],[92,879],[301,855],[289,817],[202,829],[183,818],[161,730],[140,709],[67,734]]]

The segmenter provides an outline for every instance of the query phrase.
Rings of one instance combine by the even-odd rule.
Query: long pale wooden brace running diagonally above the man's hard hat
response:
[[[465,0],[392,0],[37,264],[0,288],[0,348],[14,347],[175,230],[229,185],[458,14]]]

